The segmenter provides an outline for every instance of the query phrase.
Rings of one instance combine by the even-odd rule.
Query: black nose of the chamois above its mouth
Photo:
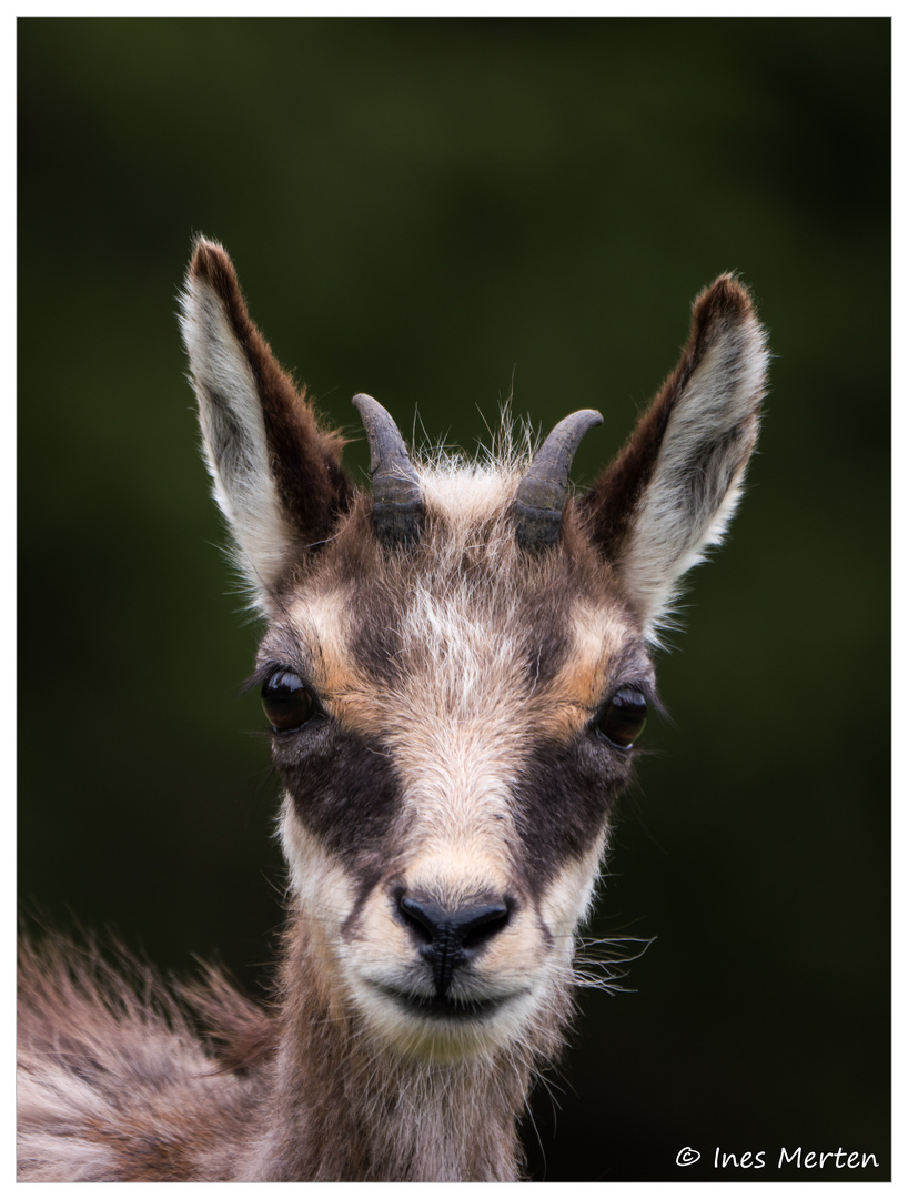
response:
[[[443,908],[425,896],[401,892],[397,909],[432,966],[439,995],[446,994],[455,969],[475,957],[511,918],[507,899]]]

